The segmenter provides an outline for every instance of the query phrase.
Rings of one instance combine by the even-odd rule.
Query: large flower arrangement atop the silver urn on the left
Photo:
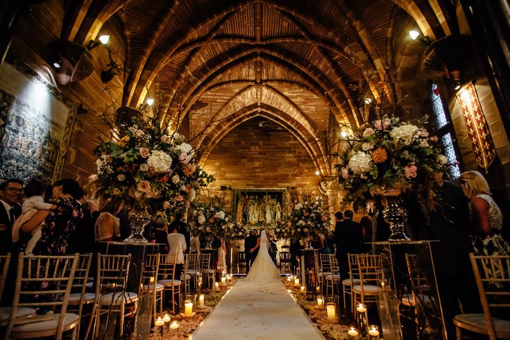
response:
[[[130,124],[115,129],[119,139],[95,149],[101,198],[193,201],[196,190],[214,180],[195,164],[196,151],[185,137],[169,133],[158,119],[134,117]]]

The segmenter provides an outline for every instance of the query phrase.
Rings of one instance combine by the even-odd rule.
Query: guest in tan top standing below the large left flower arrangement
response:
[[[120,201],[108,201],[99,214],[94,226],[96,241],[115,241],[121,236],[120,220],[117,214],[124,208]]]

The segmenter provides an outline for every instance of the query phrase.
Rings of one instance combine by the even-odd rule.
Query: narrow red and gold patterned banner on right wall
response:
[[[487,169],[496,156],[496,149],[488,130],[487,121],[474,84],[470,84],[457,94],[468,134],[473,144],[475,159],[480,167]]]

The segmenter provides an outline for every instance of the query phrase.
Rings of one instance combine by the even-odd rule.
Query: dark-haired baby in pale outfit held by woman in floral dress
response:
[[[12,241],[17,242],[20,237],[20,229],[24,222],[28,221],[37,211],[39,210],[53,210],[56,209],[56,205],[44,202],[44,192],[46,185],[37,179],[30,180],[25,188],[26,198],[22,205],[22,214],[12,225]],[[28,235],[24,235],[22,232],[22,240],[20,240],[20,250],[24,250],[26,253],[32,253],[32,249],[41,237],[42,223],[31,230]]]

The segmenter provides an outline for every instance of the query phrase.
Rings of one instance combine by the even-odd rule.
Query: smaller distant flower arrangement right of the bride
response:
[[[323,210],[322,205],[322,197],[310,201],[295,201],[288,219],[293,227],[294,239],[314,238],[318,234],[327,234],[330,230],[330,216]]]

